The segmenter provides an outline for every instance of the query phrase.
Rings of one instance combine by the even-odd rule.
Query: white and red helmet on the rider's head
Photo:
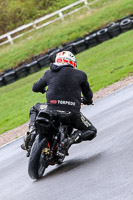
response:
[[[70,64],[72,67],[77,68],[76,58],[70,51],[62,51],[57,53],[55,63]]]

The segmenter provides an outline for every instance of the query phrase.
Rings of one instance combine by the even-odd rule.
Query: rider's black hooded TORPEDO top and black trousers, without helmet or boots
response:
[[[48,110],[57,110],[60,120],[65,125],[70,125],[81,131],[82,140],[92,140],[97,133],[92,123],[80,112],[81,93],[88,103],[92,102],[93,93],[87,81],[87,75],[71,65],[51,64],[50,69],[33,84],[34,92],[46,92]],[[30,125],[34,125],[35,117],[40,106],[35,104],[30,110]],[[65,114],[66,111],[69,112]]]

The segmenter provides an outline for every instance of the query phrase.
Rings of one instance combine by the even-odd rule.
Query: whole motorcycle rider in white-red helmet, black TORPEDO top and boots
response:
[[[86,73],[77,69],[75,56],[70,51],[62,51],[56,55],[55,63],[51,63],[50,69],[33,84],[32,91],[44,93],[45,87],[48,87],[46,109],[56,110],[64,125],[77,129],[62,143],[62,150],[67,155],[72,144],[92,140],[97,133],[92,123],[80,112],[81,93],[83,102],[88,105],[93,102],[93,93]],[[22,145],[28,152],[36,137],[35,118],[41,107],[45,106],[38,103],[30,110],[29,132]]]

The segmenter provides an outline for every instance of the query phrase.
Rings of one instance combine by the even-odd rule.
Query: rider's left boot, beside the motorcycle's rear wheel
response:
[[[21,148],[27,151],[26,154],[27,157],[30,156],[31,147],[33,145],[35,138],[36,138],[36,129],[34,126],[31,126],[30,130],[25,133],[23,137],[24,143],[21,145]]]

